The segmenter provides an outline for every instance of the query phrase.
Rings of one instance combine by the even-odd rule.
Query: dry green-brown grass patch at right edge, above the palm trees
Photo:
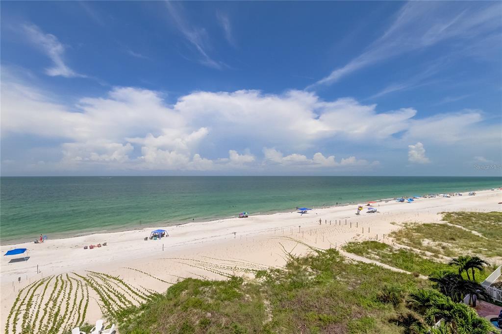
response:
[[[401,245],[448,257],[471,254],[484,258],[502,256],[502,213],[445,213],[443,223],[407,223],[389,236]],[[472,233],[472,229],[481,235]],[[498,233],[498,236],[497,236]],[[487,236],[485,236],[485,234]],[[489,259],[487,259],[489,260]]]

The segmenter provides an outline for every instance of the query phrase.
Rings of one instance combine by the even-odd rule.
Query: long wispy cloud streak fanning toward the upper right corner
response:
[[[389,29],[365,52],[308,88],[332,84],[368,65],[447,39],[475,39],[500,27],[499,16],[499,3],[451,6],[448,2],[408,2]]]

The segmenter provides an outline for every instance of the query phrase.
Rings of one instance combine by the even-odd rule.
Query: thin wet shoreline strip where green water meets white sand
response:
[[[497,190],[498,188],[494,188],[495,190]],[[468,192],[484,192],[484,191],[491,191],[491,189],[480,189],[480,190],[464,190],[464,191],[455,191],[455,193],[468,193]],[[437,193],[435,195],[438,195],[438,194],[444,194],[444,193]],[[463,196],[466,196],[466,194],[463,194]],[[423,196],[423,195],[421,195]],[[361,203],[364,203],[364,204],[367,204],[366,202],[368,201],[373,201],[375,203],[382,203],[382,202],[385,202],[385,201],[393,201],[393,200],[396,200],[397,198],[399,197],[394,197],[394,198],[386,198],[386,199],[376,199],[376,200],[367,200],[367,201],[363,201],[363,202],[349,202],[349,203],[341,203],[341,204],[338,204],[338,205],[327,205],[327,204],[320,204],[320,205],[314,205],[312,206],[312,209],[329,209],[329,208],[335,208],[335,207],[346,207],[346,206],[349,206],[349,205],[356,205],[356,204],[361,204]],[[405,197],[406,198],[406,197]],[[364,205],[362,204],[362,205]],[[318,206],[318,208],[316,208],[316,206]],[[321,208],[322,207],[322,208]],[[266,212],[259,212],[259,213],[252,213],[252,214],[249,214],[249,216],[253,216],[253,217],[257,217],[257,216],[269,216],[269,215],[274,215],[274,214],[278,214],[278,213],[290,213],[290,212],[296,212],[296,210],[270,210],[270,211],[266,211]],[[71,239],[71,238],[77,238],[77,237],[85,237],[85,236],[91,236],[91,235],[94,235],[94,234],[110,234],[110,233],[120,233],[120,232],[128,232],[128,231],[140,231],[140,230],[144,230],[144,229],[150,229],[150,228],[158,228],[158,227],[176,227],[176,226],[182,226],[182,225],[187,225],[187,224],[199,224],[199,223],[216,223],[216,222],[220,222],[220,221],[223,221],[223,220],[228,220],[228,219],[234,219],[234,218],[237,218],[238,215],[234,215],[234,216],[226,216],[226,217],[212,217],[212,218],[208,218],[208,219],[202,219],[202,220],[196,220],[196,221],[188,221],[188,222],[172,222],[172,223],[169,223],[167,221],[158,221],[158,222],[152,222],[152,223],[144,223],[144,224],[139,224],[139,225],[131,225],[131,226],[127,226],[127,227],[124,227],[124,228],[119,228],[117,227],[116,229],[115,228],[110,228],[110,229],[104,229],[104,230],[93,230],[93,231],[82,231],[82,232],[78,232],[78,233],[71,233],[71,232],[62,232],[61,234],[59,233],[55,233],[55,234],[52,234],[54,235],[55,237],[54,238],[50,238],[50,240],[62,240],[62,239]],[[42,233],[45,235],[45,233]],[[70,235],[71,234],[71,235]],[[38,240],[38,238],[35,237],[35,239]],[[18,245],[18,244],[25,244],[25,243],[34,243],[34,240],[31,240],[31,241],[27,241],[26,239],[11,239],[11,240],[8,240],[7,242],[0,242],[0,246],[8,246],[8,245]]]

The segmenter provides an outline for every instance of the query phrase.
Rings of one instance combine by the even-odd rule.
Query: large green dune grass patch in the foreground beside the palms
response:
[[[145,303],[120,332],[400,333],[389,320],[403,307],[406,291],[429,285],[349,262],[334,249],[289,257],[285,268],[259,271],[253,280],[187,278]]]

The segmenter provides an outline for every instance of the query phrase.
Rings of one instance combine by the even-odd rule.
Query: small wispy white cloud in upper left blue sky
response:
[[[39,47],[53,62],[54,66],[46,69],[46,74],[50,76],[62,76],[65,78],[85,77],[73,71],[64,61],[65,47],[56,36],[45,34],[35,25],[23,25],[24,32],[30,41]]]

